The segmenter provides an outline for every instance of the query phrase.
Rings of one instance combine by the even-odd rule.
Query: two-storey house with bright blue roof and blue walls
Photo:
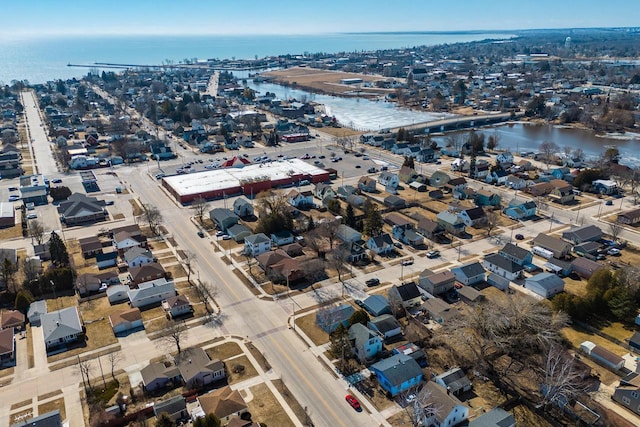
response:
[[[380,387],[391,396],[397,396],[422,381],[422,369],[411,356],[396,354],[369,368],[378,379]]]

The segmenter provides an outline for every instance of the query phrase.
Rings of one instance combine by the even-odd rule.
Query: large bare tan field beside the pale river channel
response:
[[[318,70],[313,68],[294,67],[285,70],[270,71],[263,75],[273,77],[275,82],[282,83],[287,86],[299,86],[311,89],[315,92],[329,93],[335,95],[353,93],[360,89],[360,95],[379,96],[390,93],[390,89],[378,89],[373,87],[364,88],[362,85],[344,85],[340,84],[341,79],[360,78],[365,82],[375,82],[386,80],[382,76],[344,73],[339,71]]]

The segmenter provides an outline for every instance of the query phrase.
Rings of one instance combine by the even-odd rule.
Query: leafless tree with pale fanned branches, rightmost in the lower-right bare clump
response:
[[[558,399],[571,400],[588,390],[584,373],[577,369],[575,359],[560,345],[552,345],[547,352],[541,379],[541,406]]]

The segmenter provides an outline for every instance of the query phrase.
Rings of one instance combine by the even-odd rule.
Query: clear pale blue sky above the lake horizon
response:
[[[2,0],[0,35],[640,26],[640,0]]]

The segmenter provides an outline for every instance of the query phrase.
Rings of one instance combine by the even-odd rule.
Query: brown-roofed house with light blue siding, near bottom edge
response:
[[[457,426],[469,418],[469,408],[454,395],[447,393],[447,390],[440,384],[427,381],[423,387],[423,393],[428,396],[424,405],[438,409],[422,412],[422,426]]]

